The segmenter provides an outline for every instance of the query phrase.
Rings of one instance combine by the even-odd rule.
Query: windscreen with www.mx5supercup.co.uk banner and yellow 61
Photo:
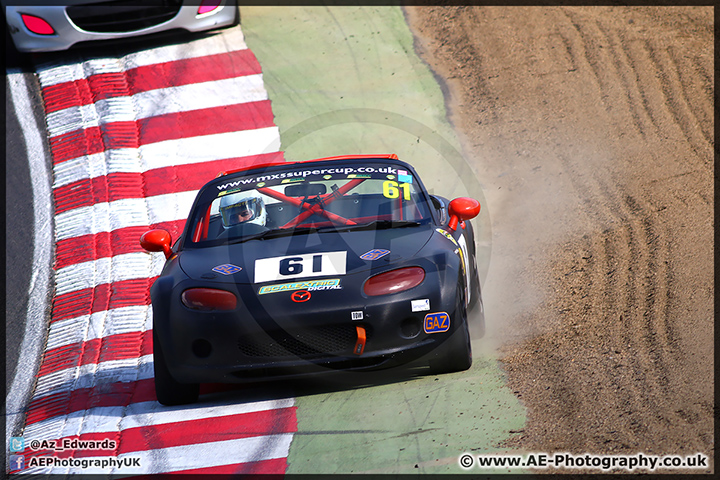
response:
[[[228,175],[201,192],[185,246],[431,221],[420,181],[399,165],[323,163],[257,172]]]

